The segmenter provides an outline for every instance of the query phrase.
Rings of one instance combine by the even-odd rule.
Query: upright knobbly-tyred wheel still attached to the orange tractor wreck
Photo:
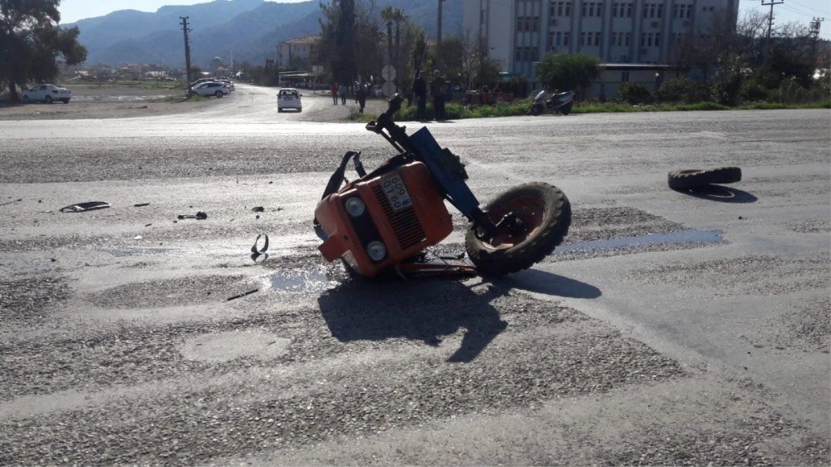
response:
[[[568,234],[571,204],[561,189],[543,183],[521,184],[499,194],[486,211],[494,223],[513,212],[525,230],[499,234],[487,241],[474,224],[465,237],[465,249],[479,272],[492,275],[519,273],[543,260]]]

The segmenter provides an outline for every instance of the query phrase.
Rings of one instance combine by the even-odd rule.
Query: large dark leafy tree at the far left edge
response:
[[[17,101],[17,86],[52,81],[66,65],[86,60],[77,27],[57,26],[60,0],[0,0],[0,81]]]

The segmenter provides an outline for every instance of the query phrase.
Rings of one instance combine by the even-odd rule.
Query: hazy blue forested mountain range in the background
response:
[[[376,12],[399,7],[428,37],[436,35],[436,0],[378,0]],[[443,6],[445,36],[460,31],[460,1]],[[189,17],[191,63],[206,66],[214,57],[224,62],[262,63],[273,58],[278,43],[320,32],[320,2],[215,0],[188,6],[161,7],[156,12],[120,10],[103,17],[82,19],[78,41],[87,49],[87,65],[157,63],[184,66],[184,34],[179,17]]]

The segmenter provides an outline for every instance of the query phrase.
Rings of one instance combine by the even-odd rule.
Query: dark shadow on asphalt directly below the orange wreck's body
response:
[[[448,361],[473,361],[507,324],[491,302],[507,292],[474,292],[451,280],[346,283],[317,299],[332,336],[341,342],[404,337],[438,346],[439,336],[464,327],[461,347]]]

